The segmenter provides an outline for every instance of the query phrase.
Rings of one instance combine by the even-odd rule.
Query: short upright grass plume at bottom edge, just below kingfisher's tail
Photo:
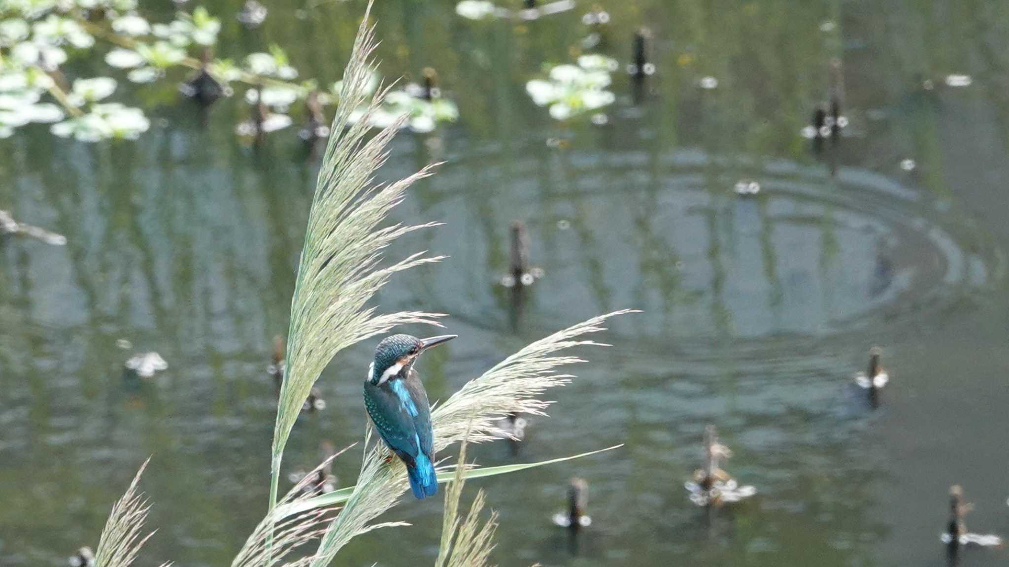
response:
[[[466,444],[471,429],[467,427],[459,447],[459,463],[466,462]],[[483,509],[484,492],[476,492],[470,505],[469,515],[459,524],[459,499],[465,485],[465,467],[456,467],[455,479],[445,490],[445,516],[442,519],[442,539],[438,548],[435,567],[485,567],[490,550],[493,549],[494,531],[497,529],[497,514],[491,513],[486,524],[480,527],[480,511]]]

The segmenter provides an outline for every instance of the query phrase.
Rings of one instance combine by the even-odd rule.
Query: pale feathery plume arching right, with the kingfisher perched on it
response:
[[[549,402],[536,396],[548,388],[563,385],[573,376],[558,374],[555,369],[564,364],[582,362],[574,356],[554,356],[554,353],[580,345],[599,345],[578,337],[603,331],[602,323],[614,316],[630,313],[616,311],[579,323],[545,339],[536,341],[490,368],[480,377],[469,381],[455,392],[444,406],[432,412],[435,447],[445,449],[466,437],[471,428],[470,442],[489,441],[496,429],[495,419],[511,412],[544,415]],[[368,447],[371,426],[367,427],[364,446]],[[339,516],[326,531],[312,567],[326,567],[337,552],[355,536],[387,524],[369,524],[394,505],[407,490],[406,467],[382,443],[364,452],[364,462],[357,484]],[[464,467],[464,463],[458,466]]]

